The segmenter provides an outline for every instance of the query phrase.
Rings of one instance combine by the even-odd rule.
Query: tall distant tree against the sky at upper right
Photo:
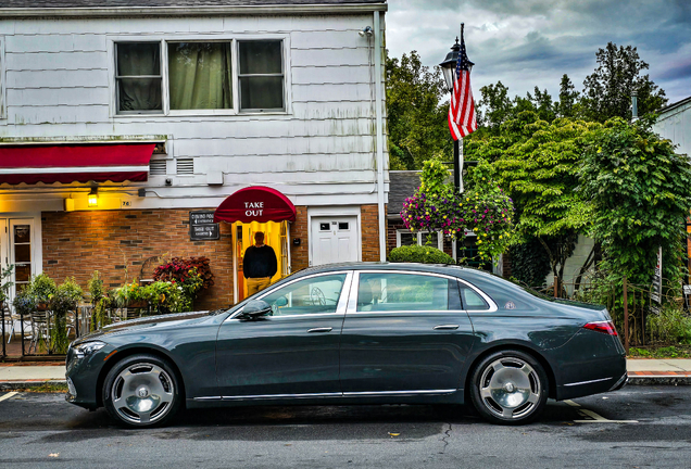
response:
[[[595,54],[598,67],[586,77],[581,103],[586,116],[605,122],[611,117],[631,118],[631,92],[638,92],[639,115],[652,113],[667,103],[665,91],[655,85],[648,74],[649,68],[631,46],[607,43]]]

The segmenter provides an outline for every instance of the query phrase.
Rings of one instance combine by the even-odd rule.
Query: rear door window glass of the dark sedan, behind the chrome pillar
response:
[[[448,310],[449,280],[417,274],[361,274],[359,312]]]

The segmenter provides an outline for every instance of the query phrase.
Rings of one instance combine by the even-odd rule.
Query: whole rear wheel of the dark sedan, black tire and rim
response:
[[[495,352],[473,369],[470,400],[492,423],[529,423],[544,410],[548,382],[544,368],[531,355],[515,350]]]

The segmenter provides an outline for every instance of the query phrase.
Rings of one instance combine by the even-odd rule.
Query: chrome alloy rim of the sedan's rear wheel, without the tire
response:
[[[528,363],[518,357],[501,357],[485,368],[479,391],[491,414],[520,419],[538,407],[542,389],[538,373]]]

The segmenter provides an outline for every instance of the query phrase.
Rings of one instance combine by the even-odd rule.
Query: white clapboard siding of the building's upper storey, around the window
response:
[[[375,51],[357,34],[365,26],[373,14],[0,20],[0,137],[165,138],[168,154],[155,157],[167,162],[166,174],[130,183],[162,199],[137,206],[194,206],[190,199],[248,185],[275,187],[298,204],[376,203]],[[286,39],[287,112],[113,115],[112,41],[262,37]],[[175,174],[181,159],[192,160],[192,175]],[[209,172],[224,173],[224,186],[209,187]]]

